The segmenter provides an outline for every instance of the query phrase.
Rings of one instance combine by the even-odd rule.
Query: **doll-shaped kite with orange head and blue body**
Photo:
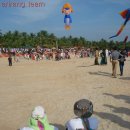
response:
[[[62,13],[65,14],[64,17],[64,23],[65,23],[65,29],[70,30],[71,26],[70,24],[72,23],[72,18],[70,14],[73,12],[73,8],[69,3],[66,3],[62,7]]]

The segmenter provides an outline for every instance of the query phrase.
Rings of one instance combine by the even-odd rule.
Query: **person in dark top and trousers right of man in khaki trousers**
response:
[[[125,52],[122,50],[121,55],[119,56],[119,67],[120,67],[120,76],[123,76],[123,69],[124,69],[124,62],[125,59]]]

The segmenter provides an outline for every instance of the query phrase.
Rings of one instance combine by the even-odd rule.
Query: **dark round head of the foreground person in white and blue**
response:
[[[87,99],[81,99],[74,104],[74,113],[80,118],[89,118],[93,114],[93,104]]]

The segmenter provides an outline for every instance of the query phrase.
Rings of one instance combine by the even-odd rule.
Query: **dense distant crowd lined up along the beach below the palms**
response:
[[[101,52],[101,51],[100,51]],[[99,53],[100,53],[99,52]],[[15,61],[18,60],[16,57],[23,56],[25,59],[32,60],[62,60],[70,59],[73,55],[77,58],[94,57],[95,50],[91,48],[66,48],[66,49],[56,49],[56,48],[0,48],[0,57],[12,55],[15,57]]]

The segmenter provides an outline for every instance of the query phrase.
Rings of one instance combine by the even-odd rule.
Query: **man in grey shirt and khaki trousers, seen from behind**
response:
[[[110,56],[110,62],[112,62],[112,76],[114,76],[114,78],[116,78],[117,75],[117,65],[120,55],[121,54],[117,51],[117,48],[114,47]]]

